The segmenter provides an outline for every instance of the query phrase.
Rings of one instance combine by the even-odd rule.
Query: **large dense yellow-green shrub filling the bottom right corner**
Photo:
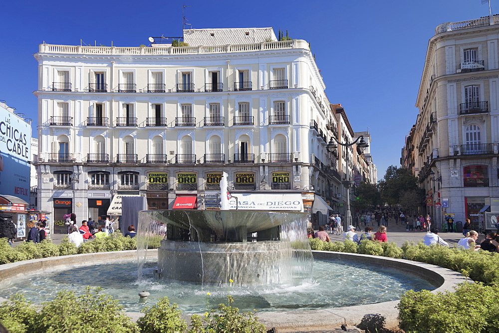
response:
[[[405,293],[399,305],[405,332],[499,332],[499,285],[464,283],[454,293]]]

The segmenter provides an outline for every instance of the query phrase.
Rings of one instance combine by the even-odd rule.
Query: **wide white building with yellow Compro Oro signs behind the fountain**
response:
[[[184,35],[191,46],[39,45],[38,207],[55,232],[69,211],[105,216],[115,195],[217,208],[223,171],[232,193],[301,193],[310,212],[338,200],[336,118],[308,43],[271,28]]]

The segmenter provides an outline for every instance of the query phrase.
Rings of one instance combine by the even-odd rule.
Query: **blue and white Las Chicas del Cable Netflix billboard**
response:
[[[0,106],[0,194],[29,202],[31,126]]]

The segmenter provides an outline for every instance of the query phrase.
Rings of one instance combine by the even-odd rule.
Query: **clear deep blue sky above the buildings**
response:
[[[354,131],[369,128],[379,178],[399,166],[435,27],[489,15],[481,0],[4,1],[0,99],[36,121],[38,44],[147,45],[181,34],[182,4],[192,5],[194,28],[271,26],[309,41],[329,101],[342,104]]]

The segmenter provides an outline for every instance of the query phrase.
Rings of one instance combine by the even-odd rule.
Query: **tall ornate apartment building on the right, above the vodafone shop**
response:
[[[437,26],[426,54],[416,124],[401,162],[427,193],[422,212],[484,228],[498,192],[499,16]]]

